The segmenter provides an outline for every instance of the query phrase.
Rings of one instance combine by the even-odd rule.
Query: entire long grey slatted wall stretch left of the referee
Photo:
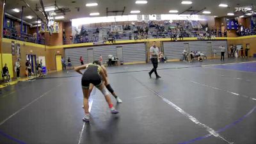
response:
[[[119,49],[118,52],[117,49]],[[68,57],[70,57],[73,66],[81,65],[79,61],[80,56],[83,57],[84,63],[90,63],[93,60],[99,60],[100,54],[102,55],[103,63],[108,61],[109,54],[115,57],[122,57],[119,58],[119,61],[123,61],[124,64],[146,62],[145,43],[99,45],[65,49],[65,59],[67,61]],[[119,56],[117,56],[118,54]]]

